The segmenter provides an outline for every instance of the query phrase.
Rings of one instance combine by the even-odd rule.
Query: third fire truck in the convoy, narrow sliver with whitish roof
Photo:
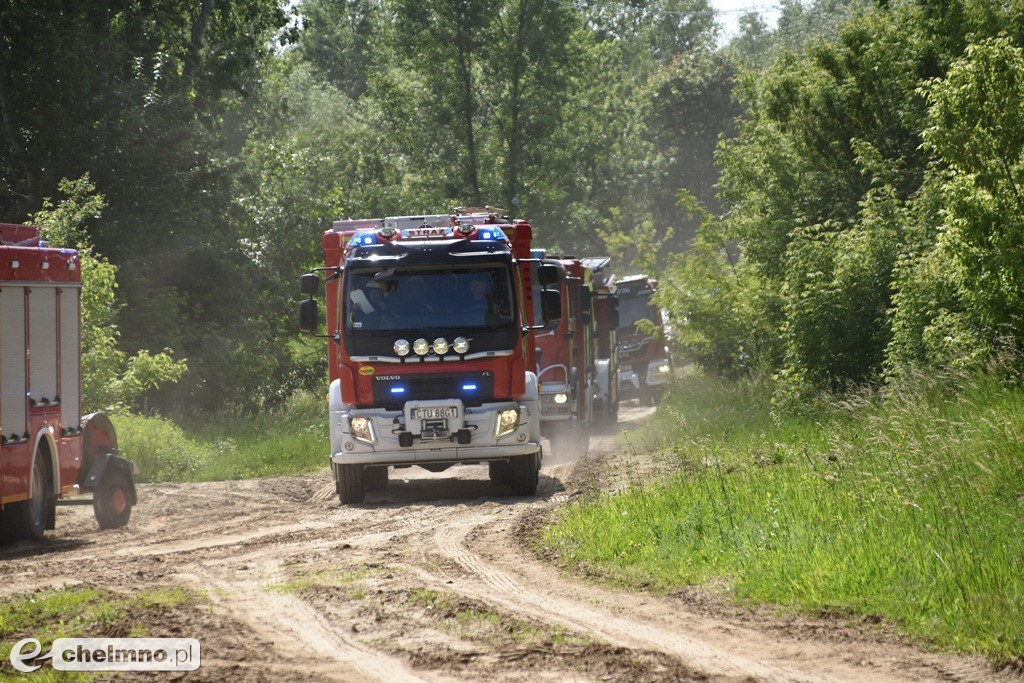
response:
[[[595,256],[583,259],[590,268],[594,288],[594,337],[597,344],[594,360],[594,421],[613,426],[618,420],[618,294],[615,275],[609,270],[611,259]]]

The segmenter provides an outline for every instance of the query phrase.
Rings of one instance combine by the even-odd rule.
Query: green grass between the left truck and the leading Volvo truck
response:
[[[327,403],[302,393],[278,410],[217,414],[181,426],[162,417],[113,417],[121,453],[140,481],[213,481],[310,472],[327,465]]]

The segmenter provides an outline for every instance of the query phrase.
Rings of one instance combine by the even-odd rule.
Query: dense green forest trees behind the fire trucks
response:
[[[324,383],[339,217],[495,204],[663,281],[680,350],[780,399],[1016,357],[1019,0],[7,0],[0,217],[86,250],[87,396]]]

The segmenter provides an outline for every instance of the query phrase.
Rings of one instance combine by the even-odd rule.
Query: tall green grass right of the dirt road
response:
[[[978,376],[773,418],[770,388],[691,376],[646,426],[675,473],[568,507],[567,561],[670,589],[866,613],[1024,655],[1024,390]]]

